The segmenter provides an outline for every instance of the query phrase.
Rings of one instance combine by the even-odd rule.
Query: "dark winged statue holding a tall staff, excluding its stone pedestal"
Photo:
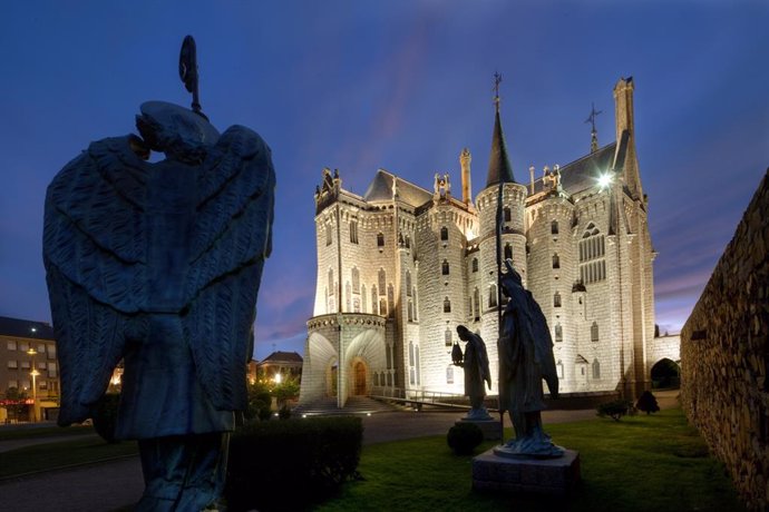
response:
[[[508,297],[502,318],[499,353],[499,408],[507,411],[515,437],[499,455],[556,457],[564,449],[552,443],[542,429],[545,408],[543,378],[551,395],[558,396],[558,375],[553,357],[553,339],[547,321],[532,293],[524,288],[513,263],[505,260],[502,289]]]

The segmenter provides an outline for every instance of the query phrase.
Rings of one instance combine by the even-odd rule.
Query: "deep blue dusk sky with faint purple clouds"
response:
[[[769,2],[17,1],[0,7],[0,316],[50,322],[46,187],[93,140],[135,132],[147,100],[201,104],[257,131],[278,176],[255,357],[302,353],[315,289],[313,191],[323,167],[362,195],[378,168],[432,189],[473,154],[485,183],[493,75],[516,179],[614,139],[612,88],[635,82],[656,323],[678,332],[769,166]]]

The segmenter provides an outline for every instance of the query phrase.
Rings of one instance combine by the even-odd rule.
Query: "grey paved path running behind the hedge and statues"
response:
[[[678,392],[655,393],[662,408],[676,406]],[[457,412],[392,412],[363,419],[363,444],[445,434],[461,416]],[[543,421],[565,423],[591,420],[594,410],[546,411]],[[509,421],[505,421],[509,426]],[[59,437],[61,439],[61,437]],[[0,483],[3,510],[16,512],[101,512],[130,510],[136,503],[144,481],[138,457],[90,465],[77,470],[58,471],[22,480]],[[12,504],[12,505],[10,505]],[[4,509],[10,505],[10,509]]]

